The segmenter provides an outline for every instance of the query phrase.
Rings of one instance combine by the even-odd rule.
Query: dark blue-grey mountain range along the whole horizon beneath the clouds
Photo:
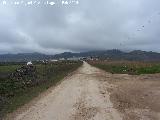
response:
[[[19,53],[19,54],[1,54],[0,62],[19,62],[19,61],[34,61],[44,59],[60,59],[60,58],[73,58],[73,57],[96,57],[100,59],[111,60],[137,60],[137,61],[160,61],[160,53],[147,52],[141,50],[134,50],[131,52],[124,52],[117,49],[89,51],[89,52],[64,52],[56,55],[46,55],[41,53]]]

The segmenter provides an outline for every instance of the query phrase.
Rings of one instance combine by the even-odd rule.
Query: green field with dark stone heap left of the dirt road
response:
[[[56,85],[81,64],[80,61],[35,62],[33,67],[27,67],[24,63],[1,63],[0,118]]]

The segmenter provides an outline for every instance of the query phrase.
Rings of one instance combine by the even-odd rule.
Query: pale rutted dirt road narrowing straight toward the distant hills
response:
[[[84,62],[72,76],[12,120],[122,120],[109,93],[102,92],[103,79],[103,71]]]

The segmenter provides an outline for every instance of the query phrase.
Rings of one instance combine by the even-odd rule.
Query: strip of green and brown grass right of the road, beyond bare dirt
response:
[[[140,75],[160,73],[159,62],[89,61],[89,63],[113,74]]]

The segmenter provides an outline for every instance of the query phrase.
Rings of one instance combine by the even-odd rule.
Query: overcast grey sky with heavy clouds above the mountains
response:
[[[0,54],[108,49],[160,52],[159,0],[5,2],[0,1]]]

